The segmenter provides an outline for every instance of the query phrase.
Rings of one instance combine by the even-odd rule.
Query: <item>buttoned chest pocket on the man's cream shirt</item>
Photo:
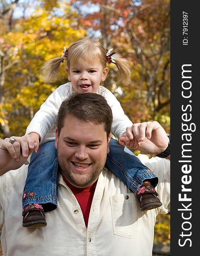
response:
[[[111,196],[110,204],[115,235],[133,238],[141,232],[139,203],[133,193]]]

